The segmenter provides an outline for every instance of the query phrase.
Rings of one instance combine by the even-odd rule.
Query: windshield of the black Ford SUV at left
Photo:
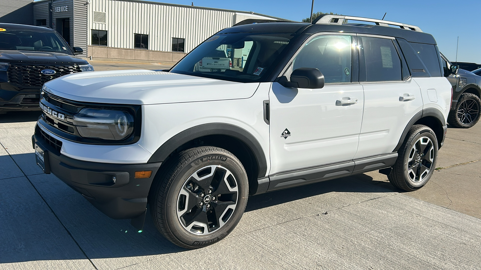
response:
[[[60,52],[72,55],[70,48],[56,32],[6,29],[0,32],[0,49]]]

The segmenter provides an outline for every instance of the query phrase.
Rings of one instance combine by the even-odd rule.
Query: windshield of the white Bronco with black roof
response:
[[[234,82],[260,82],[277,65],[294,34],[230,33],[204,41],[170,72]]]

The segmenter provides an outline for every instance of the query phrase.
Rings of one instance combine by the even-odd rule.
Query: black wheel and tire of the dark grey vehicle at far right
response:
[[[480,120],[481,100],[471,93],[464,93],[454,110],[449,112],[448,123],[457,128],[470,128]]]

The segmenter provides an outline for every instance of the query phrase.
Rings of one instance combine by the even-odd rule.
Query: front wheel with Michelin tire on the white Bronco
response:
[[[247,204],[247,174],[230,152],[197,147],[172,157],[149,198],[159,231],[176,245],[214,244],[240,221]]]

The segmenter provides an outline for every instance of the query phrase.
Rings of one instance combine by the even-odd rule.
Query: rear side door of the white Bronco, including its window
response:
[[[364,158],[391,153],[409,121],[423,109],[423,100],[418,84],[403,69],[394,38],[358,35],[358,41],[365,101],[355,158]]]

